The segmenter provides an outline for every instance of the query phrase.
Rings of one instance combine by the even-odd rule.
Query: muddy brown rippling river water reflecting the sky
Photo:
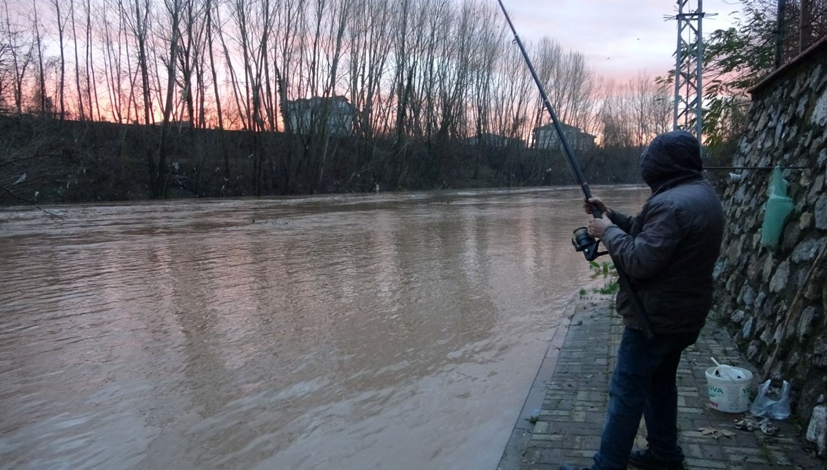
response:
[[[0,468],[493,470],[596,282],[580,199],[2,209]]]

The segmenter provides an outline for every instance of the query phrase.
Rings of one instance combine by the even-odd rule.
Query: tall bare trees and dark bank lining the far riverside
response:
[[[552,152],[516,144],[532,146],[547,113],[493,2],[0,1],[9,197],[32,197],[20,192],[23,173],[39,197],[50,193],[34,188],[41,166],[20,164],[60,139],[67,148],[50,155],[118,168],[121,197],[536,185],[567,174]],[[668,89],[645,74],[616,84],[556,41],[527,46],[562,122],[605,148],[635,153],[666,130]],[[346,105],[344,127],[332,103]],[[41,128],[51,143],[20,145]],[[480,135],[515,143],[466,145]],[[601,171],[624,170],[610,161],[622,153],[604,151]]]

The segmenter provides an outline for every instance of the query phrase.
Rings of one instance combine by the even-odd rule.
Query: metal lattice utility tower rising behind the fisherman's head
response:
[[[700,141],[703,129],[703,0],[691,12],[690,0],[677,0],[678,13],[667,20],[677,20],[677,49],[675,51],[675,108],[672,129],[689,127],[694,116],[695,136]],[[683,94],[681,94],[683,91]]]

